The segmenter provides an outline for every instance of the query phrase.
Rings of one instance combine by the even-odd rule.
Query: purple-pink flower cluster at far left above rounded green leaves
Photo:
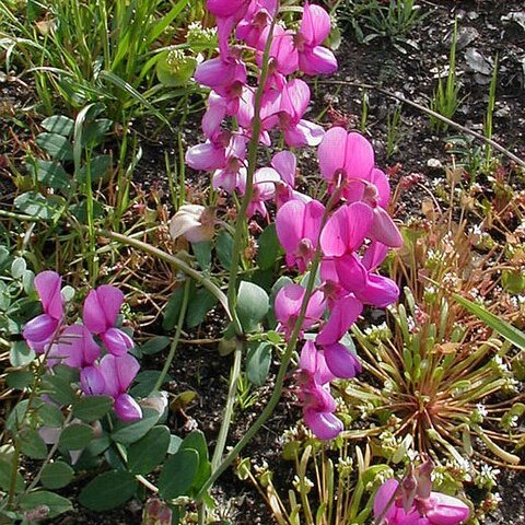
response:
[[[82,392],[113,397],[120,419],[140,419],[142,410],[127,393],[140,365],[128,353],[133,341],[116,327],[122,292],[107,284],[92,290],[84,301],[83,323],[68,326],[60,288],[61,278],[55,271],[35,277],[44,313],[25,325],[23,336],[27,345],[37,353],[46,353],[49,368],[61,363],[79,369]],[[106,350],[102,358],[95,338]]]

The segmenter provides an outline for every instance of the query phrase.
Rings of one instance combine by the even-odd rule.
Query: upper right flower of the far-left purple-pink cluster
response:
[[[115,327],[124,293],[115,287],[103,284],[92,290],[84,301],[84,326],[101,337],[108,352],[124,355],[133,348],[131,338]]]

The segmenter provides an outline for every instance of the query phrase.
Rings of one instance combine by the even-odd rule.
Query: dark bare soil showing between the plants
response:
[[[525,158],[525,26],[510,20],[510,13],[524,13],[522,0],[509,1],[442,1],[421,0],[421,10],[428,13],[423,22],[412,30],[405,39],[376,38],[371,44],[358,44],[349,27],[343,30],[341,47],[338,50],[340,70],[330,79],[319,79],[312,84],[314,108],[312,115],[328,104],[330,109],[324,117],[326,126],[343,124],[349,128],[360,126],[363,110],[363,90],[358,84],[374,84],[388,92],[401,95],[422,105],[428,105],[436,86],[436,77],[448,63],[454,21],[457,20],[457,78],[460,83],[463,102],[454,119],[459,124],[481,131],[486,118],[491,63],[498,55],[498,88],[494,110],[493,139],[514,154]],[[492,61],[492,62],[491,62]],[[348,82],[347,85],[336,82]],[[4,79],[0,83],[1,104],[4,110],[12,105],[23,105],[30,96],[25,86]],[[390,170],[393,182],[401,177],[417,175],[418,180],[433,190],[433,180],[444,176],[442,165],[451,159],[451,137],[458,132],[448,129],[445,133],[434,133],[429,128],[428,116],[413,107],[401,106],[401,121],[395,151],[387,154],[388,115],[398,106],[395,98],[376,90],[365,90],[368,105],[366,132],[374,142],[380,166],[396,166]],[[1,118],[1,114],[0,114]],[[148,131],[148,125],[144,125]],[[26,130],[16,129],[23,140],[31,140]],[[143,133],[141,143],[143,156],[138,165],[139,184],[145,190],[160,188],[164,197],[168,194],[164,154],[173,155],[178,150],[175,136],[161,133],[151,138]],[[149,137],[148,139],[145,137]],[[468,137],[468,136],[464,136]],[[187,124],[185,142],[196,143],[198,118]],[[482,144],[479,144],[482,145]],[[19,152],[23,148],[10,139],[3,141],[0,150],[0,192],[5,197],[13,191],[7,174],[7,156],[19,163]],[[15,152],[13,155],[12,152]],[[456,153],[456,161],[465,155]],[[508,164],[509,161],[503,159]],[[20,167],[20,166],[19,166]],[[312,159],[302,158],[302,173],[315,175]],[[188,174],[194,182],[196,174]],[[195,177],[195,178],[194,178]],[[399,214],[417,214],[422,199],[421,189],[405,190],[400,199]],[[168,199],[166,199],[168,201]],[[405,212],[402,211],[405,209]],[[155,368],[155,362],[150,363]],[[197,400],[173,416],[170,425],[174,432],[184,435],[194,428],[201,429],[211,447],[217,438],[222,418],[222,408],[228,390],[230,358],[221,358],[212,346],[198,348],[184,345],[170,371],[173,382],[172,393],[195,390]],[[156,366],[158,368],[158,366]],[[249,423],[260,413],[271,394],[271,378],[267,386],[257,390],[257,401],[244,411],[237,409],[229,443],[233,444],[243,435]],[[267,460],[270,467],[279,469],[276,478],[280,486],[288,487],[293,474],[288,464],[280,459],[279,438],[282,431],[298,420],[300,409],[293,404],[293,396],[287,394],[275,416],[264,427],[257,438],[244,452],[258,462]],[[500,475],[498,492],[502,498],[500,509],[487,521],[488,525],[525,524],[525,474],[504,471]],[[228,518],[236,525],[275,523],[260,495],[246,482],[241,482],[232,471],[219,481],[214,497],[229,508]],[[106,512],[90,513],[75,509],[73,513],[60,517],[56,523],[66,524],[140,524],[141,511],[138,502],[126,508]]]

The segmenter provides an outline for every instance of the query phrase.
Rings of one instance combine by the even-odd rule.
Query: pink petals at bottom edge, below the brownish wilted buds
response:
[[[399,482],[387,479],[374,498],[374,516],[377,518],[390,499],[398,492]],[[468,506],[457,498],[431,492],[429,498],[415,497],[412,505],[402,508],[402,495],[395,497],[394,503],[384,515],[384,525],[458,525],[469,516]]]

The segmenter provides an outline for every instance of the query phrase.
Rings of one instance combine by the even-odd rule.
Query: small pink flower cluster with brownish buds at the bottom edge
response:
[[[468,520],[468,506],[457,498],[432,491],[432,462],[409,470],[401,483],[387,479],[374,499],[381,525],[458,525]]]

